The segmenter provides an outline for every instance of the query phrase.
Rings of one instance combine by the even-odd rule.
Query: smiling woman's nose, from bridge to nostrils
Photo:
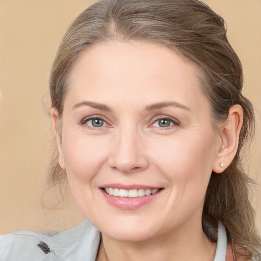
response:
[[[114,137],[109,157],[109,166],[121,173],[134,173],[146,169],[149,165],[144,140],[134,129],[121,131]]]

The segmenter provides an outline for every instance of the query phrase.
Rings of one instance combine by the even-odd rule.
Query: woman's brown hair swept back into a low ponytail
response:
[[[201,71],[202,91],[212,106],[213,122],[224,121],[229,108],[239,104],[244,123],[239,148],[231,165],[212,173],[203,208],[202,226],[212,241],[217,224],[226,227],[228,242],[245,260],[260,260],[254,211],[249,201],[251,179],[244,173],[240,152],[254,132],[254,111],[242,95],[243,73],[238,56],[226,37],[222,17],[197,0],[101,0],[77,17],[68,28],[50,75],[52,106],[63,114],[68,77],[75,61],[90,46],[108,41],[147,41],[178,51]],[[49,182],[60,183],[66,173],[54,156]]]

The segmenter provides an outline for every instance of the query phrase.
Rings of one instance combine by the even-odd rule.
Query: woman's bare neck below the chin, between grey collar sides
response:
[[[102,234],[97,261],[213,261],[216,243],[206,238],[201,224],[188,231],[174,229],[139,242],[118,241]]]

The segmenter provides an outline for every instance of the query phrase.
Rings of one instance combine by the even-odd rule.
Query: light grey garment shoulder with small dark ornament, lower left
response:
[[[100,232],[87,220],[53,236],[17,231],[0,237],[0,260],[95,260],[99,241]]]

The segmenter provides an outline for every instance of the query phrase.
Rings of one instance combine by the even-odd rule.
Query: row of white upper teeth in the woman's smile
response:
[[[114,196],[114,197],[129,197],[129,198],[137,198],[137,197],[144,197],[155,194],[159,191],[159,189],[153,190],[123,190],[123,189],[113,189],[113,188],[105,188],[107,194]]]

